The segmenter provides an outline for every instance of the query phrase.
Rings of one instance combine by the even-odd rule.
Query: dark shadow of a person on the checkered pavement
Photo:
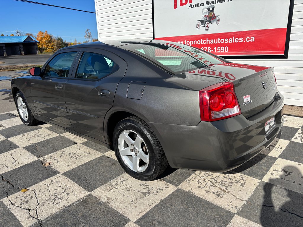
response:
[[[300,173],[300,170],[294,166],[285,166],[283,169],[291,169],[291,172],[286,173],[289,175],[295,171]],[[281,178],[283,177],[285,173],[281,174]],[[275,186],[272,183],[276,180],[270,179],[263,187],[264,196],[260,215],[262,226],[303,226],[303,195]],[[293,179],[288,182],[295,183]]]

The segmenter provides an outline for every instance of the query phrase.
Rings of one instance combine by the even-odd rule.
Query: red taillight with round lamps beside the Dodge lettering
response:
[[[222,82],[199,91],[202,121],[222,120],[241,114],[234,84]]]

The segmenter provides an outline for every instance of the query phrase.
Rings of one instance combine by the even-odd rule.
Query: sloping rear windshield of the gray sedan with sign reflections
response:
[[[172,42],[134,43],[121,46],[121,48],[153,61],[171,74],[180,74],[226,62],[199,49]]]

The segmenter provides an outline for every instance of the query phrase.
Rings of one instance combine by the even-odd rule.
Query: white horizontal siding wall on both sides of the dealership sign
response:
[[[152,39],[151,0],[95,0],[99,40]],[[295,0],[288,59],[232,59],[275,67],[285,104],[303,106],[303,0]]]

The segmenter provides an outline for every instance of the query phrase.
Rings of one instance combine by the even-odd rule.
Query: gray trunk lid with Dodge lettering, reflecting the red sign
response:
[[[246,64],[218,64],[173,75],[167,81],[174,81],[193,90],[201,90],[220,82],[232,82],[241,113],[246,118],[268,107],[275,100],[277,92],[274,68]]]

